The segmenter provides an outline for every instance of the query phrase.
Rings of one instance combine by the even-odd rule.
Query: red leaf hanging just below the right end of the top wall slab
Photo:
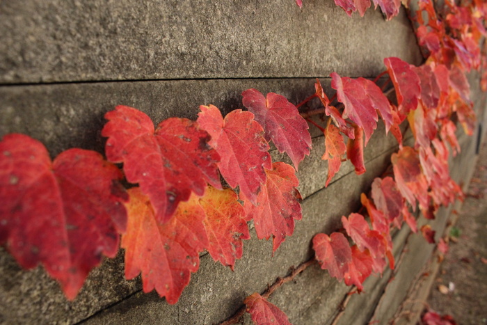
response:
[[[384,58],[384,64],[396,89],[399,113],[406,116],[416,109],[417,99],[421,96],[420,77],[400,58]]]

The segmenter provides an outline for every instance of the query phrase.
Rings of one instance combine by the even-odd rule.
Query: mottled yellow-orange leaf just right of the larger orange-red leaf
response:
[[[199,201],[206,214],[208,253],[233,270],[235,260],[242,257],[242,240],[250,239],[244,207],[231,189],[208,187]]]

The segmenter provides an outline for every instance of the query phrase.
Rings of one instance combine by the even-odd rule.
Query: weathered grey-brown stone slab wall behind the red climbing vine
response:
[[[104,152],[103,116],[117,104],[134,106],[157,123],[170,116],[195,119],[200,104],[215,104],[223,113],[243,109],[240,94],[247,88],[297,104],[314,93],[318,77],[332,93],[330,72],[375,77],[389,56],[422,63],[403,9],[385,22],[378,10],[349,18],[331,0],[307,0],[302,10],[292,0],[1,1],[0,136],[29,134],[52,157],[72,147]],[[475,84],[478,76],[471,79]],[[485,96],[472,90],[477,109],[485,107]],[[360,193],[397,150],[380,123],[365,150],[367,173],[356,175],[346,162],[324,189],[324,137],[310,130],[313,150],[298,171],[303,220],[273,256],[271,242],[258,240],[252,230],[234,272],[203,254],[200,270],[170,306],[155,292],[144,294],[140,279],[124,279],[122,251],[92,271],[70,302],[41,267],[24,271],[0,248],[0,322],[214,324],[230,317],[246,296],[308,260],[312,237],[335,230],[342,215],[358,209]],[[472,168],[477,138],[459,140],[462,154],[452,159],[452,171],[467,183],[470,178],[459,171]],[[272,156],[289,162],[276,150]],[[451,209],[441,212],[438,227],[445,227]],[[343,313],[349,287],[317,265],[270,301],[293,324],[329,324],[339,313],[340,324],[387,322],[433,251],[407,226],[394,235],[394,244],[402,264],[369,278]]]

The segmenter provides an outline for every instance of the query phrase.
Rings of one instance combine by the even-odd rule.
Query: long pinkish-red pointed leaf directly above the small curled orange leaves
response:
[[[336,72],[330,74],[331,86],[337,90],[337,98],[345,106],[343,116],[356,123],[365,133],[365,145],[377,127],[377,112],[370,97],[365,93],[362,83],[356,79],[340,77]]]

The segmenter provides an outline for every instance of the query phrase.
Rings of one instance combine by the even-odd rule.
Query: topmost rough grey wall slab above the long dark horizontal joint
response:
[[[0,84],[374,77],[385,57],[421,61],[403,8],[350,19],[328,0],[1,1],[0,31]]]

